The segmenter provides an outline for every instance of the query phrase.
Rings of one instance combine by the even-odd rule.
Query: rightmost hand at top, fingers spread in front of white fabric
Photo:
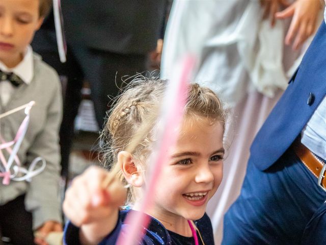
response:
[[[290,45],[293,42],[292,48],[297,50],[315,32],[321,7],[320,0],[296,0],[288,8],[275,14],[278,19],[293,16],[285,44]]]

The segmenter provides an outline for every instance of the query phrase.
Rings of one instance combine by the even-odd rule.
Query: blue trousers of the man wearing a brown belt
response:
[[[325,200],[317,178],[291,149],[265,171],[249,162],[241,193],[224,218],[222,244],[318,244],[304,240],[316,215],[325,213]]]

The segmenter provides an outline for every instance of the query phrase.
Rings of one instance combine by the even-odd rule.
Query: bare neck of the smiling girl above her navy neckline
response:
[[[134,204],[132,209],[139,211],[139,206],[137,203]],[[189,227],[188,220],[177,214],[164,212],[152,208],[146,214],[156,218],[167,230],[177,233],[182,236],[192,237],[193,233]]]

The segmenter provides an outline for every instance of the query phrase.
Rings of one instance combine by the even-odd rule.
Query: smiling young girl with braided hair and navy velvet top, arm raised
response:
[[[103,139],[110,139],[104,158],[116,164],[119,173],[114,173],[115,166],[111,172],[90,167],[74,179],[63,204],[70,219],[66,244],[115,244],[119,232],[128,229],[126,214],[137,212],[142,200],[155,122],[132,152],[126,149],[137,130],[157,114],[165,88],[166,81],[143,79],[120,96],[102,133]],[[194,220],[199,244],[214,243],[205,209],[222,180],[225,120],[213,91],[188,86],[184,119],[161,171],[153,207],[146,212],[151,222],[140,244],[195,244],[188,220]],[[112,178],[107,187],[106,180]],[[126,194],[132,209],[119,211]]]

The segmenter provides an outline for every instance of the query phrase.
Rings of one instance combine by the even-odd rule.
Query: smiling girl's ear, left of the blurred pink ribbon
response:
[[[134,164],[131,154],[126,151],[119,152],[118,162],[122,166],[122,173],[127,182],[135,187],[141,187],[144,183],[142,171]]]

